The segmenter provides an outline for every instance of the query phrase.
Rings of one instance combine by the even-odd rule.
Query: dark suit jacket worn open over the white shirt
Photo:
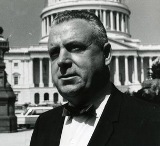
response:
[[[59,146],[63,106],[42,114],[30,146]],[[126,96],[114,86],[88,146],[160,146],[160,107]]]

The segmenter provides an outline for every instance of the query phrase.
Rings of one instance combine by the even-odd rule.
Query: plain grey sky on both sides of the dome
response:
[[[45,0],[0,0],[0,26],[10,46],[37,45]],[[131,10],[130,32],[141,44],[160,44],[160,0],[125,0]]]

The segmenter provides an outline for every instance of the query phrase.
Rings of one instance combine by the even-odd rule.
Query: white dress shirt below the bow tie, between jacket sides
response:
[[[65,117],[59,146],[87,146],[110,95],[96,108],[96,116]]]

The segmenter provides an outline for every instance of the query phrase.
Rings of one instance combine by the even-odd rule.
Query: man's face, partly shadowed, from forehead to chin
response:
[[[49,35],[53,82],[73,104],[88,100],[85,95],[104,82],[105,57],[94,35],[93,27],[80,19],[55,25]]]

